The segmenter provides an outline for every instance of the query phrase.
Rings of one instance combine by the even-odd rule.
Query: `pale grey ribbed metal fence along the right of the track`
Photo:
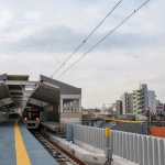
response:
[[[70,124],[73,140],[105,151],[105,129]],[[113,154],[139,165],[165,165],[165,139],[111,131],[109,147]]]

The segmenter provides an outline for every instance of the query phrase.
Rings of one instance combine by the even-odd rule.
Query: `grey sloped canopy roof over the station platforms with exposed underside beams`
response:
[[[26,106],[45,107],[59,105],[61,98],[81,98],[81,88],[40,75],[40,80],[30,81],[29,75],[0,75],[0,110],[24,109]]]

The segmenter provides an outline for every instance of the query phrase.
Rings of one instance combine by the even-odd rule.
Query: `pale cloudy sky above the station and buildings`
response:
[[[0,74],[52,74],[120,0],[0,0]],[[54,79],[145,0],[122,0]],[[148,1],[57,80],[81,88],[82,107],[102,107],[141,84],[165,102],[165,1]],[[108,105],[107,105],[108,106]]]

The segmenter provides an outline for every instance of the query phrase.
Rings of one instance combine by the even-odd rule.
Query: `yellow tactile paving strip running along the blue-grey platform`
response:
[[[16,165],[31,165],[30,157],[24,146],[22,135],[18,125],[18,120],[14,124],[15,132],[15,153],[16,153]]]

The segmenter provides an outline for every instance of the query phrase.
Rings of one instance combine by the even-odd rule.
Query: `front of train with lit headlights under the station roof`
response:
[[[25,108],[22,121],[28,129],[37,129],[40,127],[40,110],[36,108]]]

